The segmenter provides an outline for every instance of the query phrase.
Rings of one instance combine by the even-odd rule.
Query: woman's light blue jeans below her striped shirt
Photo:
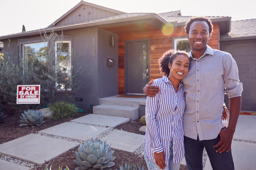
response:
[[[144,150],[144,159],[147,163],[148,170],[161,170],[160,167],[156,163],[154,163],[148,159],[148,156],[146,155],[145,150]],[[165,170],[179,170],[179,169],[180,169],[180,163],[173,164],[173,147],[172,147],[172,142],[171,142],[169,165],[166,165]]]

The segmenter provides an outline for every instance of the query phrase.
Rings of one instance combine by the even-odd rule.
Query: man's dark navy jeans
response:
[[[219,147],[213,147],[220,141],[220,135],[216,139],[199,141],[184,136],[185,159],[188,170],[203,170],[204,147],[210,159],[213,170],[234,170],[234,162],[231,150],[229,152],[216,152]]]

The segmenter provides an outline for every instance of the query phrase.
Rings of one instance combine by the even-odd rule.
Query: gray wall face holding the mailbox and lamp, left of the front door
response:
[[[115,36],[115,46],[109,40]],[[107,66],[107,58],[114,60],[114,66]],[[98,91],[99,98],[118,95],[118,35],[98,29]]]

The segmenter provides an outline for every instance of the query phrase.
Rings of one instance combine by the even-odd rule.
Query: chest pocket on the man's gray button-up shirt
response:
[[[222,71],[205,71],[205,86],[208,88],[218,88],[220,80],[223,81]]]

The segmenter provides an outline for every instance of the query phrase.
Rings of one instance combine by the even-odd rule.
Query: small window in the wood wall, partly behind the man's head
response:
[[[191,51],[189,40],[187,39],[186,36],[172,37],[172,48],[174,50],[186,51],[187,53]]]

